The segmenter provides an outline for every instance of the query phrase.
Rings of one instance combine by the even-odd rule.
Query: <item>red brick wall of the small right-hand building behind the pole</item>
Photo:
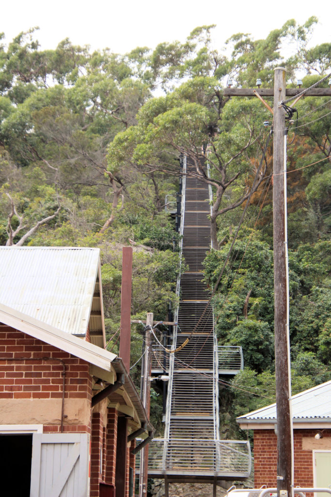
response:
[[[313,487],[313,449],[304,450],[304,438],[314,439],[316,429],[295,429],[294,439],[294,485]],[[330,438],[331,429],[325,430],[323,437]],[[276,487],[277,476],[277,437],[273,430],[254,430],[255,487],[262,485]]]

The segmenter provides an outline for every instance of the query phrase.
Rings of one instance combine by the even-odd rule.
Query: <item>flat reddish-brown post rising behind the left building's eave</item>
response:
[[[130,370],[132,247],[122,249],[120,357]]]

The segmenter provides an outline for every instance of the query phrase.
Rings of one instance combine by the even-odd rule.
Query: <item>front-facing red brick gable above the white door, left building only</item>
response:
[[[0,399],[62,399],[61,359],[66,367],[65,399],[91,400],[89,363],[57,347],[0,325],[0,358]],[[45,432],[60,428],[44,424]],[[90,432],[90,426],[66,424],[65,419],[64,431]]]

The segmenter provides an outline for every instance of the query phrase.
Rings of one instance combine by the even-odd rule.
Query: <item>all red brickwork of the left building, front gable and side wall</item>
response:
[[[62,399],[63,363],[59,359],[66,366],[65,400],[70,398],[91,401],[92,382],[88,362],[0,324],[0,399],[7,399],[8,402],[10,399]],[[89,425],[69,424],[69,420],[66,424],[66,418],[64,420],[65,432],[91,433],[91,497],[99,497],[100,482],[115,486],[117,421],[116,409],[108,409],[107,426],[103,425],[100,413],[92,414]],[[60,430],[60,424],[44,423],[44,432]],[[133,448],[133,442],[131,445]],[[129,496],[129,461],[131,466],[134,462],[130,450],[128,448],[126,496]]]

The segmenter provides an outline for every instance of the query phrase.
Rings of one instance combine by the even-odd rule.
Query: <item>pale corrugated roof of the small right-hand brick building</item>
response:
[[[293,419],[331,419],[331,381],[294,395],[292,414]],[[276,404],[237,417],[238,421],[246,419],[276,419]]]

